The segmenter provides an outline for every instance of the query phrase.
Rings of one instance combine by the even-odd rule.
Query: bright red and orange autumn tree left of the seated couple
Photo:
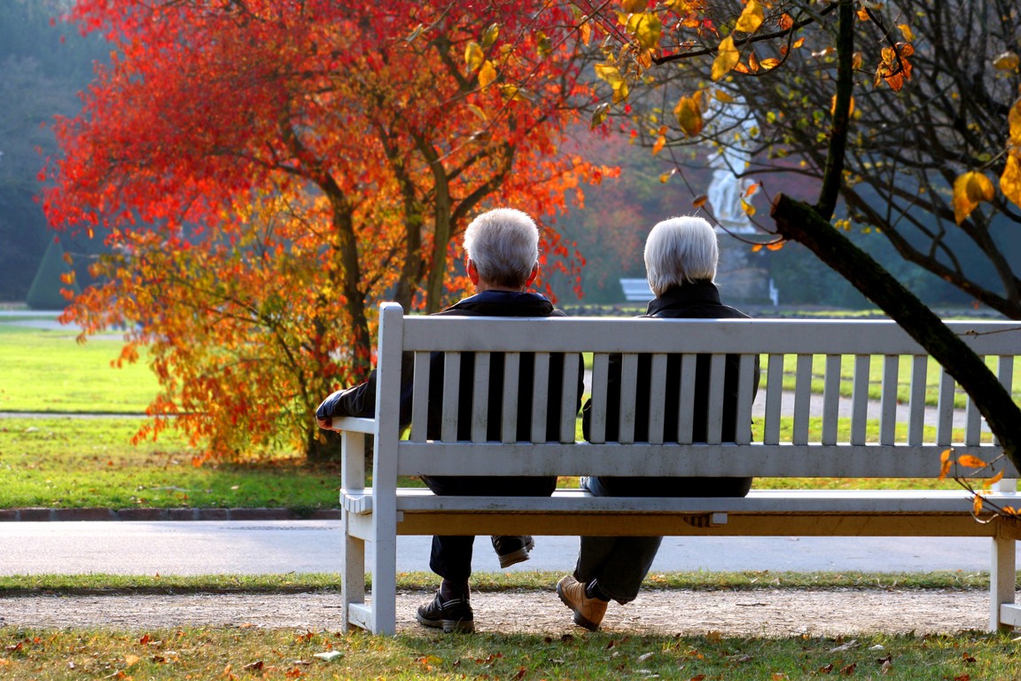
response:
[[[324,454],[311,409],[364,378],[376,302],[441,307],[475,213],[551,225],[577,195],[591,168],[557,153],[589,97],[574,14],[467,4],[74,7],[111,61],[56,126],[45,208],[109,245],[65,319],[125,328],[121,360],[147,346],[161,390],[139,437]]]

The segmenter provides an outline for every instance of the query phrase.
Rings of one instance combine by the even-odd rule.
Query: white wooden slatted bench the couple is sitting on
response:
[[[1014,357],[1021,350],[1021,327],[1013,323],[953,323],[977,352],[991,359],[1002,382],[1010,385]],[[591,392],[594,410],[592,442],[576,441],[574,381],[566,380],[563,403],[547,404],[536,394],[536,414],[561,409],[567,417],[561,442],[515,442],[515,399],[504,397],[502,442],[484,442],[487,405],[476,400],[472,432],[476,441],[456,441],[454,398],[443,402],[443,437],[427,440],[427,383],[458,383],[456,353],[476,352],[476,381],[488,375],[487,352],[506,352],[505,395],[517,393],[518,352],[535,352],[534,385],[546,385],[549,352],[565,352],[564,371],[574,376],[581,352],[593,353]],[[415,353],[415,402],[409,439],[401,440],[397,415],[400,356]],[[428,376],[431,352],[446,352],[444,376]],[[708,443],[691,444],[690,415],[680,415],[677,442],[628,442],[634,412],[621,409],[621,442],[602,442],[607,353],[623,352],[625,380],[622,404],[631,401],[635,353],[654,353],[653,375],[662,376],[663,353],[713,354]],[[762,355],[767,385],[759,391],[765,412],[752,432],[736,442],[721,442],[724,353],[740,355],[741,400],[737,423],[751,423],[755,357]],[[783,391],[784,355],[787,378]],[[814,360],[813,355],[817,356]],[[990,523],[972,517],[972,496],[966,490],[891,491],[871,489],[875,478],[935,478],[940,453],[953,447],[955,457],[970,453],[985,460],[1001,450],[981,432],[982,421],[969,403],[965,424],[953,428],[954,381],[936,367],[926,384],[926,369],[934,366],[898,327],[885,321],[805,320],[642,320],[642,319],[499,319],[404,317],[399,305],[384,303],[380,311],[379,389],[376,419],[338,418],[343,431],[344,460],[341,503],[343,516],[343,622],[376,633],[395,630],[396,537],[431,534],[532,535],[776,535],[776,536],[926,536],[989,537],[991,629],[1021,624],[1015,605],[1015,540],[1021,528],[1012,519]],[[906,357],[902,362],[902,357]],[[841,358],[844,378],[840,376]],[[873,385],[878,403],[869,399],[869,368],[881,367]],[[683,363],[688,368],[693,363]],[[909,369],[910,368],[910,369]],[[1021,369],[1021,367],[1019,367]],[[879,370],[876,370],[877,372]],[[630,372],[630,374],[629,374]],[[793,374],[791,377],[790,375]],[[684,376],[691,376],[688,371]],[[822,395],[813,395],[812,383]],[[690,403],[692,382],[682,380],[681,403]],[[852,395],[841,398],[841,384]],[[901,384],[907,404],[897,405]],[[926,389],[938,395],[938,405],[926,408]],[[454,389],[456,390],[456,388]],[[653,394],[665,390],[652,381]],[[476,390],[485,395],[484,390]],[[633,398],[631,398],[633,399]],[[849,419],[840,418],[849,399]],[[657,404],[662,400],[652,399]],[[758,401],[758,400],[757,400]],[[903,414],[902,414],[903,412]],[[650,438],[662,428],[664,415],[650,415]],[[878,431],[875,421],[878,420]],[[540,420],[533,419],[533,423]],[[867,433],[867,422],[877,436]],[[541,431],[541,427],[537,431]],[[372,487],[366,486],[366,435],[375,437]],[[1021,507],[1016,493],[1018,472],[1006,458],[994,467],[1006,479],[996,483],[988,500]],[[435,496],[428,490],[398,488],[398,476],[427,475],[627,475],[627,476],[755,476],[757,478],[856,478],[858,491],[752,489],[744,498],[624,498],[593,497],[577,489],[557,490],[552,497]],[[982,475],[992,476],[986,471]],[[366,593],[366,553],[375,551],[372,597]],[[423,556],[425,569],[427,556]],[[895,566],[890,566],[895,568]]]

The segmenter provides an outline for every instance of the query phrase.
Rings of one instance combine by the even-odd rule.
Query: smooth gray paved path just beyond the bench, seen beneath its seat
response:
[[[657,571],[987,571],[989,540],[845,537],[667,537]],[[574,567],[576,537],[537,537],[512,570]],[[489,542],[475,569],[497,572]],[[429,538],[399,537],[397,569],[428,571]],[[0,523],[0,575],[205,575],[339,571],[336,521]],[[1021,558],[1019,558],[1021,560]]]

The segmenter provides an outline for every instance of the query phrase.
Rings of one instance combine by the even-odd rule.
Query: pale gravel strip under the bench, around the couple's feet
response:
[[[397,628],[435,634],[415,621],[431,598],[403,591]],[[571,612],[552,591],[475,593],[479,632],[577,634]],[[985,629],[989,594],[978,590],[646,590],[628,605],[612,603],[603,630],[734,636],[836,636],[861,633],[949,633]],[[148,629],[256,626],[340,629],[335,593],[191,595],[33,595],[0,598],[0,625]]]

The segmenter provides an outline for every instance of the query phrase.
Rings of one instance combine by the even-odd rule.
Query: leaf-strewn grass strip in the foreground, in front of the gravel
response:
[[[621,633],[393,637],[184,627],[0,627],[0,676],[34,679],[1016,679],[1004,635],[651,636]]]

